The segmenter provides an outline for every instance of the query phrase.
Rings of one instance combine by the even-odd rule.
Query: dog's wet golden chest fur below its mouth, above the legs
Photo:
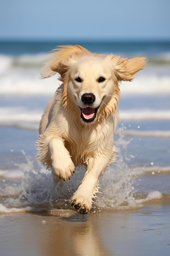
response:
[[[63,138],[73,162],[79,165],[101,152],[112,151],[113,127],[111,124],[106,124],[104,127],[88,126],[82,130],[71,129]]]

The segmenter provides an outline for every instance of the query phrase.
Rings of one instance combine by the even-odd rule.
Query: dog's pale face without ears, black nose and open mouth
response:
[[[93,123],[114,93],[113,71],[102,58],[87,57],[71,67],[68,94],[76,101],[85,124]]]

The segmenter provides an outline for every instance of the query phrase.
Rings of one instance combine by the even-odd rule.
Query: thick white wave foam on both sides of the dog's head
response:
[[[0,94],[53,95],[61,84],[57,75],[41,79],[38,70],[9,70],[0,76]],[[122,82],[122,96],[170,94],[170,77],[141,77]]]

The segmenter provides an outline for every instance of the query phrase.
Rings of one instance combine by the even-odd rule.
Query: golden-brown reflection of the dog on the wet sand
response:
[[[49,225],[45,223],[47,229],[40,243],[41,254],[43,256],[111,255],[100,240],[97,216],[94,215],[94,218],[89,220],[88,216],[73,214],[73,216],[61,217],[61,222],[58,220],[55,222],[56,217],[50,216],[53,221],[50,221]]]

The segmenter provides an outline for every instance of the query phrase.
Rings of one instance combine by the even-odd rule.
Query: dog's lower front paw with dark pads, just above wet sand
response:
[[[73,196],[71,206],[79,213],[86,214],[91,209],[91,202],[82,196]]]

